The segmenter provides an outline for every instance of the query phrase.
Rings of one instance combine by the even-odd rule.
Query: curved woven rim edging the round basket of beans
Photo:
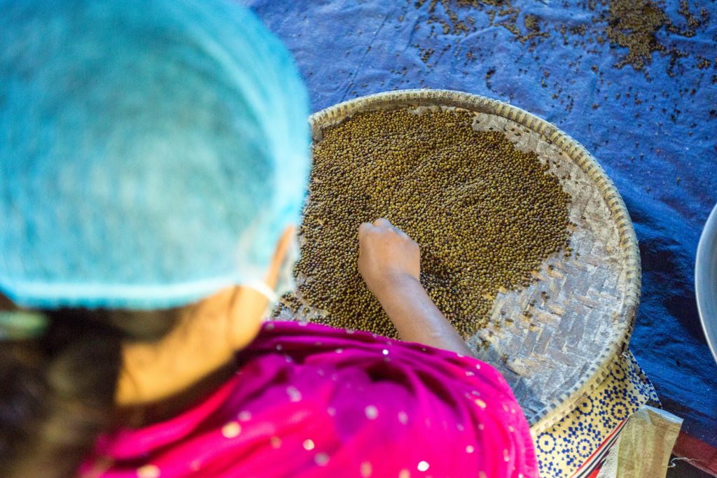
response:
[[[537,436],[554,426],[574,408],[574,405],[582,396],[593,391],[599,386],[599,383],[602,383],[609,374],[609,368],[614,358],[623,353],[630,342],[637,306],[640,303],[642,276],[640,249],[637,246],[637,236],[635,229],[632,227],[630,214],[612,180],[583,145],[562,132],[553,123],[549,123],[520,107],[500,100],[455,90],[393,90],[356,97],[326,107],[310,115],[309,123],[312,136],[315,137],[317,129],[320,130],[326,123],[335,123],[356,113],[422,105],[461,107],[478,113],[497,115],[538,133],[544,140],[556,145],[562,152],[566,153],[570,160],[587,174],[602,194],[610,211],[610,216],[617,225],[618,244],[623,254],[625,254],[626,272],[625,283],[622,287],[625,299],[619,312],[612,317],[613,335],[607,341],[607,345],[602,349],[597,360],[594,360],[589,365],[588,370],[582,374],[582,378],[578,383],[568,391],[561,393],[558,398],[548,403],[541,411],[536,412],[531,417],[526,417],[531,424],[531,433]]]

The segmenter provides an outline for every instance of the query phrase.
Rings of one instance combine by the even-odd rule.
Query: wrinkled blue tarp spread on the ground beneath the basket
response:
[[[568,32],[581,24],[604,27],[598,16],[605,2],[592,11],[585,1],[513,1],[521,18],[535,15],[549,33],[532,51],[481,11],[470,15],[469,34],[444,34],[440,25],[432,33],[429,2],[244,3],[295,55],[313,110],[395,88],[462,90],[511,102],[585,145],[617,185],[640,240],[642,302],[631,348],[665,408],[685,419],[683,429],[717,446],[717,365],[693,285],[699,235],[717,202],[715,1],[698,2],[710,20],[693,37],[657,32],[659,42],[688,57],[670,69],[670,55],[655,52],[643,71],[614,67],[627,49],[587,42],[589,35],[568,34],[565,44],[562,25]],[[663,7],[675,24],[685,24],[678,1]],[[690,9],[699,10],[692,2]],[[525,31],[523,21],[517,25]],[[435,50],[427,62],[425,49]]]

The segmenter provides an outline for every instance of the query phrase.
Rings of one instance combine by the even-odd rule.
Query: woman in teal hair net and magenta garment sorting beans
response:
[[[388,221],[359,227],[359,270],[404,342],[262,325],[309,158],[252,14],[0,0],[0,38],[3,476],[537,476]]]

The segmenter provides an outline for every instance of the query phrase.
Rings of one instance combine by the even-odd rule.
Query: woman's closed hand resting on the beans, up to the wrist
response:
[[[387,219],[364,222],[359,226],[359,272],[369,290],[381,297],[407,280],[419,282],[421,251]]]

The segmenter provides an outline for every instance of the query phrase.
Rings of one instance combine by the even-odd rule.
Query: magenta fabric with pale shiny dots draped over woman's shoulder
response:
[[[528,423],[479,360],[267,322],[237,373],[174,419],[103,436],[82,476],[537,477]]]

